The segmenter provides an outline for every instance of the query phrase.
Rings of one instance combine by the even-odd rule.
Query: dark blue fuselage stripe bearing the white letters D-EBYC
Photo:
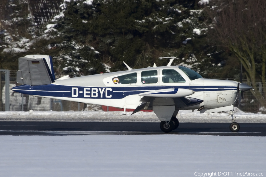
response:
[[[122,99],[128,95],[136,95],[147,91],[174,88],[174,94],[179,88],[199,91],[236,91],[234,86],[125,86],[125,87],[81,87],[81,86],[62,86],[62,85],[41,85],[29,86],[22,85],[12,88],[22,94],[51,97],[69,98],[90,98],[90,99]],[[168,92],[162,92],[166,94]],[[160,94],[160,93],[156,93]]]

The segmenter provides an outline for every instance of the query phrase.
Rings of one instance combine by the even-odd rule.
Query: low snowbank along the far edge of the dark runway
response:
[[[104,112],[104,111],[80,111],[80,112],[56,112],[56,111],[29,111],[0,112],[0,121],[111,121],[111,122],[160,122],[154,112]],[[266,114],[245,113],[235,108],[236,122],[239,123],[266,123]],[[179,122],[232,122],[228,113],[204,113],[198,111],[180,110],[177,118]]]

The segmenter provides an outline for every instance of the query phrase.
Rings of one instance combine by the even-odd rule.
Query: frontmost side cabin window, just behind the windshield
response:
[[[186,80],[174,69],[163,69],[163,83],[186,82]]]

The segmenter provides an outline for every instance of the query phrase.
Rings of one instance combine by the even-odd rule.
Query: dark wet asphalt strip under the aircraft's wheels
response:
[[[1,121],[0,135],[153,135],[165,134],[158,122],[25,122]],[[180,123],[169,134],[266,136],[266,123],[240,123],[233,133],[228,123]]]

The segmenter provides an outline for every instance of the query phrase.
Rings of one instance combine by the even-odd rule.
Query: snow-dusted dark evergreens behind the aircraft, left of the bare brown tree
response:
[[[132,68],[161,66],[168,60],[160,56],[173,56],[174,65],[218,77],[227,56],[209,44],[209,22],[194,0],[64,1],[44,25],[36,25],[26,2],[5,1],[10,13],[1,16],[1,58],[13,68],[14,60],[33,53],[53,56],[57,75],[71,76],[109,72],[110,66],[110,71],[126,70],[122,61]]]

